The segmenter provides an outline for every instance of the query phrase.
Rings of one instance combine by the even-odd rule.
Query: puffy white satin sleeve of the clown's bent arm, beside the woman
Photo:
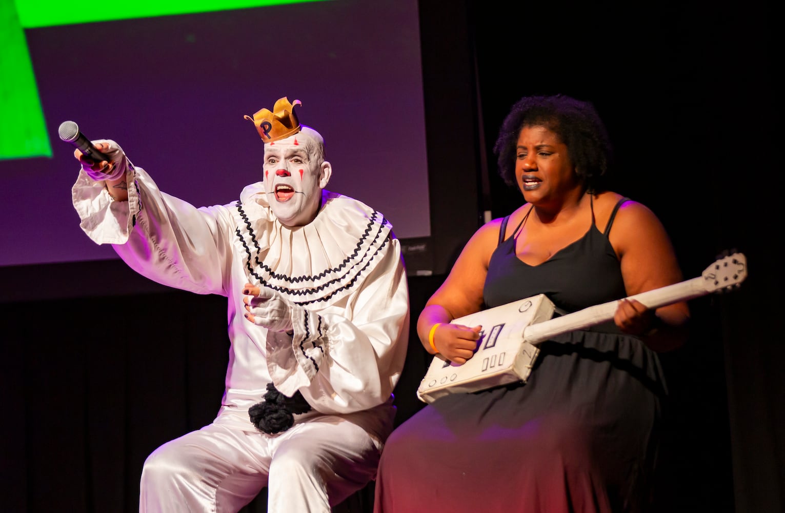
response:
[[[300,390],[323,413],[350,413],[389,401],[403,370],[409,295],[400,241],[389,236],[381,262],[341,311],[294,309],[294,336],[268,333],[276,388]]]

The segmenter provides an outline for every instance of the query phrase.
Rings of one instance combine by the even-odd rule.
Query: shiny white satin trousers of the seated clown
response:
[[[210,424],[144,462],[139,511],[235,513],[268,487],[268,513],[324,512],[376,476],[381,445],[339,416],[283,433]]]

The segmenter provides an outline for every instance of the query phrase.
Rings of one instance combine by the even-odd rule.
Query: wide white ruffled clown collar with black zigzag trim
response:
[[[246,254],[249,282],[300,305],[332,304],[350,294],[382,261],[392,236],[381,212],[327,190],[309,225],[282,225],[262,182],[243,189],[237,215],[236,236]]]

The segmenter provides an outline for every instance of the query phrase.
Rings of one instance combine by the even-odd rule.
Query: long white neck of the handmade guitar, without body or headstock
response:
[[[637,301],[649,309],[659,308],[674,302],[687,301],[688,299],[707,295],[709,291],[707,291],[704,281],[703,277],[692,278],[692,280],[681,281],[663,288],[655,288],[652,291],[631,295],[627,299],[637,299]],[[589,328],[590,326],[610,321],[613,319],[618,306],[618,300],[605,302],[601,305],[590,306],[574,313],[556,317],[550,321],[530,324],[524,328],[524,342],[537,344],[543,340],[550,339],[554,335],[561,335],[562,333],[573,332],[577,329]]]

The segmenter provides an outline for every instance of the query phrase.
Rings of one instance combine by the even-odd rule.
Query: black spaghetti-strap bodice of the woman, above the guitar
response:
[[[518,233],[531,209],[521,219],[513,236],[505,240],[508,215],[502,220],[498,246],[488,263],[483,289],[485,306],[491,308],[545,294],[557,308],[575,312],[626,297],[621,264],[608,240],[608,233],[619,207],[629,200],[622,198],[615,204],[604,233],[597,229],[592,201],[589,230],[539,266],[529,266],[515,254]]]

